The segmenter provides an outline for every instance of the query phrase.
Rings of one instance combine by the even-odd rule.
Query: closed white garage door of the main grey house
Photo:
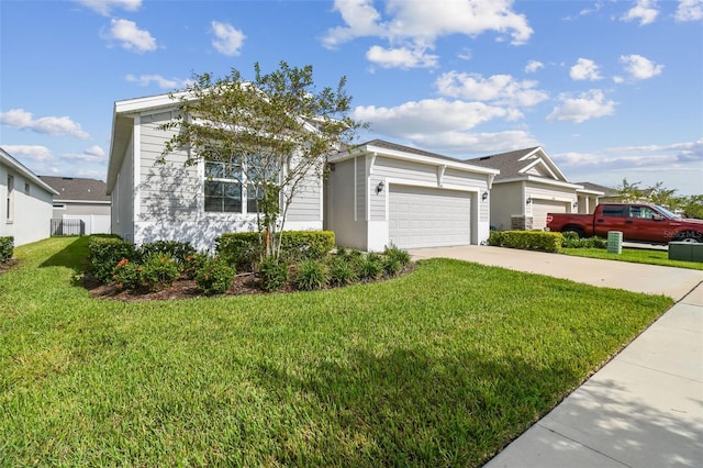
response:
[[[393,185],[389,191],[389,237],[401,248],[471,243],[469,193]]]

